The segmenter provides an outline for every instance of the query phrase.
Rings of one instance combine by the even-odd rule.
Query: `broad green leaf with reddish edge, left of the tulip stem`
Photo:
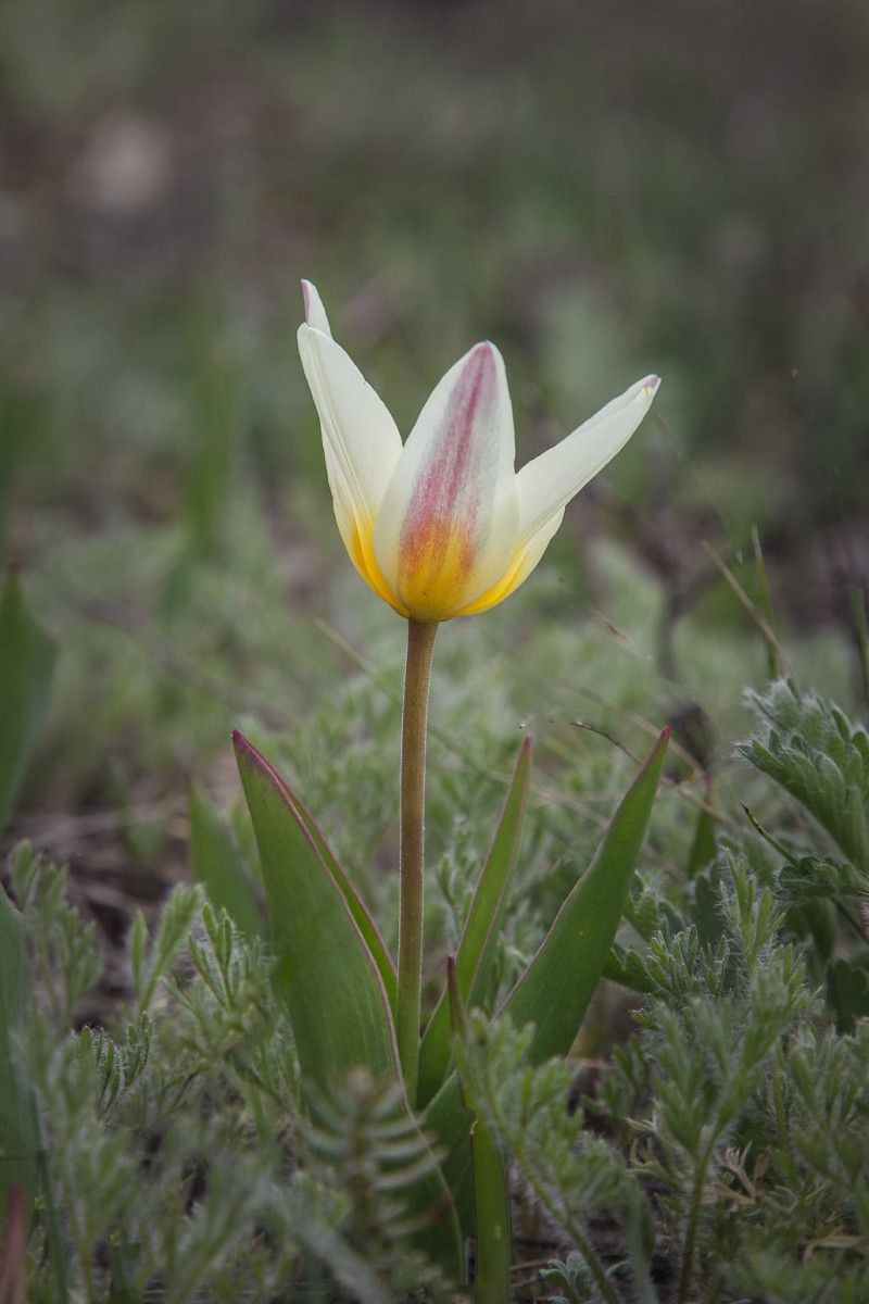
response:
[[[400,1078],[383,979],[347,898],[285,785],[246,738],[233,741],[302,1073],[323,1086],[357,1065]]]

